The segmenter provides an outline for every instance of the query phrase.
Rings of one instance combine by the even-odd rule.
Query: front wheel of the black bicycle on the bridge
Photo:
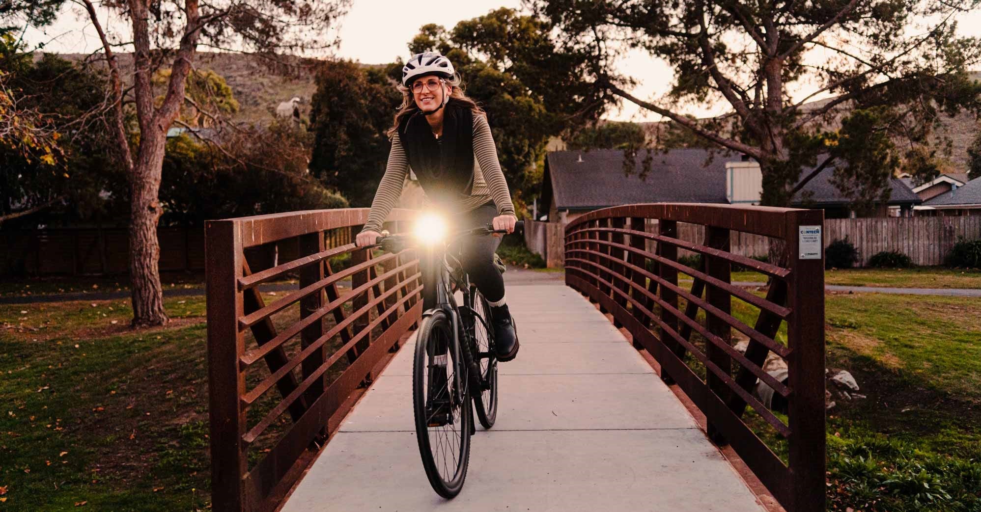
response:
[[[444,498],[463,488],[470,462],[473,413],[465,365],[453,354],[453,328],[445,312],[426,318],[416,337],[412,403],[423,468]],[[457,393],[457,382],[464,386]],[[459,395],[459,397],[457,397]]]

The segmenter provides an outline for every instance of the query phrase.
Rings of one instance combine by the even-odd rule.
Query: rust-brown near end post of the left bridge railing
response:
[[[245,334],[238,329],[244,310],[237,289],[244,259],[242,240],[233,221],[208,222],[205,231],[211,501],[217,512],[240,512],[245,510],[242,475],[248,469],[242,441],[245,410],[239,402],[245,374],[238,367],[245,350]]]

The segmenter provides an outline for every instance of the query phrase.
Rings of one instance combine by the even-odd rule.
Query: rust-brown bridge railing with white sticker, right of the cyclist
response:
[[[649,220],[656,232],[645,230]],[[820,210],[639,204],[594,211],[565,229],[566,283],[633,334],[661,378],[705,415],[709,437],[730,444],[792,512],[824,510],[822,221]],[[679,239],[679,223],[704,226],[704,241]],[[786,264],[732,254],[732,231],[783,244]],[[679,249],[700,255],[694,267],[679,262]],[[769,277],[765,296],[733,285],[734,265]],[[734,331],[748,338],[745,352],[734,348]],[[787,379],[763,370],[770,353],[786,361]],[[753,394],[757,382],[786,400],[786,422]],[[760,435],[783,439],[773,443],[787,463]]]

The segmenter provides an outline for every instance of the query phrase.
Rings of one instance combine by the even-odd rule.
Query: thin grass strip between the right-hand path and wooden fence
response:
[[[734,282],[765,282],[758,272],[734,272]],[[826,284],[892,288],[981,288],[981,271],[916,267],[912,269],[847,269],[824,272]]]

